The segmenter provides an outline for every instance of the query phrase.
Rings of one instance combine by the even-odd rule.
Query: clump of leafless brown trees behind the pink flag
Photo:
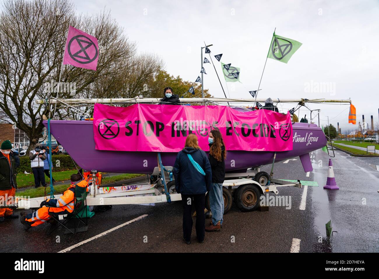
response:
[[[0,14],[0,119],[16,123],[28,135],[29,148],[42,134],[42,114],[49,112],[49,106],[35,100],[58,93],[47,91],[46,83],[58,82],[69,25],[95,36],[100,45],[97,71],[62,68],[62,82],[75,83],[75,98],[113,97],[123,86],[125,95],[129,90],[135,94],[161,65],[151,55],[136,59],[135,43],[109,12],[76,16],[70,0],[6,0]],[[59,92],[58,97],[72,96]],[[73,115],[57,105],[57,116]]]

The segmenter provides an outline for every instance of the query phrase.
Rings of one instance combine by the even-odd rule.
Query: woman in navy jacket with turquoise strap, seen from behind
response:
[[[191,244],[192,204],[196,208],[196,236],[200,243],[205,237],[205,193],[212,186],[212,170],[208,157],[200,149],[195,134],[189,134],[185,147],[178,153],[174,164],[175,188],[182,195],[183,240]]]

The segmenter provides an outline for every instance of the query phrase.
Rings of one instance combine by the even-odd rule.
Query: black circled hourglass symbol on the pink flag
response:
[[[75,44],[79,45],[80,50],[78,50],[75,53],[72,53],[71,52],[71,46],[74,49],[76,49],[74,47]],[[87,50],[89,50],[92,47],[95,48],[95,54],[93,57],[89,57]],[[97,55],[99,54],[99,52],[97,51],[97,47],[94,44],[94,42],[92,42],[91,39],[89,39],[87,36],[84,36],[84,35],[77,35],[77,36],[72,37],[69,41],[67,50],[68,50],[70,57],[80,64],[91,63],[92,61],[94,61],[96,59]]]

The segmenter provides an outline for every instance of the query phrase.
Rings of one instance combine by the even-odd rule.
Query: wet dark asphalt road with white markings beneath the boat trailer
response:
[[[296,158],[276,163],[274,178],[311,180],[319,187],[280,187],[279,196],[291,197],[290,209],[272,206],[268,212],[240,212],[233,205],[224,215],[221,232],[206,233],[203,244],[197,243],[194,228],[192,244],[182,243],[182,208],[173,202],[114,205],[96,213],[88,231],[76,235],[64,235],[63,229],[47,235],[48,224],[25,232],[18,220],[6,220],[0,224],[0,252],[379,252],[379,172],[368,166],[379,165],[379,158],[337,151],[333,166],[340,190],[331,191],[323,189],[328,156],[322,150],[313,155],[313,172],[305,174]],[[269,172],[270,166],[261,170]],[[147,216],[125,224],[143,215]],[[331,238],[325,230],[330,219],[337,231]],[[86,240],[91,241],[77,245]]]

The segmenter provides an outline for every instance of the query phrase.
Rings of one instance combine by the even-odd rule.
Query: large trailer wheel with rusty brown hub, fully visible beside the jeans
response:
[[[260,196],[257,185],[241,185],[236,191],[234,202],[241,211],[254,211],[258,208]]]

